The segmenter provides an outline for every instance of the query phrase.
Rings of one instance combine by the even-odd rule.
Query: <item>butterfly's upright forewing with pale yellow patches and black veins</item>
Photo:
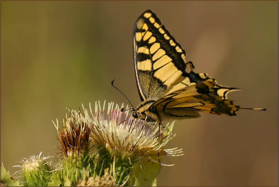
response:
[[[141,101],[160,98],[185,72],[184,49],[151,10],[135,23],[133,51]]]

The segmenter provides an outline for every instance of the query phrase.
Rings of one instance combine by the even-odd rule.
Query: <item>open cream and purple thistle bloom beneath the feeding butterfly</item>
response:
[[[92,126],[91,139],[97,149],[105,148],[109,154],[114,153],[123,160],[129,159],[133,164],[142,157],[147,157],[153,162],[159,163],[158,160],[152,158],[158,155],[179,156],[181,150],[162,149],[166,143],[172,138],[172,124],[167,124],[162,131],[162,141],[160,141],[159,126],[154,123],[148,123],[144,120],[132,121],[128,117],[128,112],[121,112],[119,106],[113,108],[113,103],[108,104],[107,113],[105,112],[105,103],[103,108],[95,103],[95,112],[92,111],[90,105],[91,117],[94,119]],[[122,104],[123,107],[123,104]],[[121,107],[121,108],[122,108]],[[128,107],[127,107],[128,108]],[[87,113],[85,109],[85,113]],[[91,118],[85,115],[87,121]],[[143,129],[144,128],[144,129]]]

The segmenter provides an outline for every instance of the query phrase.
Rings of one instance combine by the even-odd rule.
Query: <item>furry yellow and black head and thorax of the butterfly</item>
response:
[[[147,119],[149,122],[156,122],[158,115],[149,110],[149,107],[155,102],[155,100],[144,100],[140,103],[136,109],[131,108],[128,115],[134,119]]]

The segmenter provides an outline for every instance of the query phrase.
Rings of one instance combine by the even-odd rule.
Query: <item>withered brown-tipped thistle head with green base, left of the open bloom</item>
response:
[[[87,176],[96,174],[94,168],[98,162],[94,162],[97,152],[93,150],[90,144],[91,121],[84,120],[80,111],[69,110],[70,115],[66,120],[63,119],[63,128],[59,129],[58,121],[55,125],[59,141],[61,143],[57,165],[62,185],[75,186],[76,181],[86,179]],[[86,173],[86,174],[85,174]]]

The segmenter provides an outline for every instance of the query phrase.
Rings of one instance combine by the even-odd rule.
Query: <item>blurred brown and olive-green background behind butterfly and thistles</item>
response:
[[[1,1],[1,162],[54,156],[66,107],[140,103],[132,29],[147,9],[183,46],[195,72],[245,91],[237,116],[177,121],[159,186],[278,185],[278,1]]]

